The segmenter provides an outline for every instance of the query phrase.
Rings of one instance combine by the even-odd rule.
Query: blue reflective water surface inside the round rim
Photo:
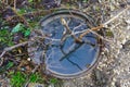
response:
[[[70,34],[78,37],[88,25],[80,17],[55,16],[47,23],[42,23],[42,30],[49,37],[44,40],[47,70],[60,75],[77,75],[87,71],[95,61],[100,47],[93,34],[82,38],[82,42],[76,42],[61,23],[61,17],[67,22]]]

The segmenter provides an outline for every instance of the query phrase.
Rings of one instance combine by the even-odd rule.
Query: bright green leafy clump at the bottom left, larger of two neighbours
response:
[[[26,82],[26,75],[22,72],[12,73],[11,85],[12,87],[23,87]]]

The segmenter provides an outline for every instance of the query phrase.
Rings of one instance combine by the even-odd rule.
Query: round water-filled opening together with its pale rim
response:
[[[62,20],[67,23],[68,28],[63,25]],[[76,38],[94,26],[92,21],[88,15],[68,10],[43,17],[40,29],[47,38],[39,46],[31,48],[35,49],[31,59],[38,62],[41,61],[38,59],[42,58],[47,74],[60,78],[73,78],[86,74],[98,62],[101,47],[98,37],[92,33],[87,34],[81,42],[77,42]]]

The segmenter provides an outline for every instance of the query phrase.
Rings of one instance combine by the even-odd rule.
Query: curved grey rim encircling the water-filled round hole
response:
[[[90,15],[84,14],[84,13],[79,12],[79,11],[75,11],[75,10],[60,10],[60,11],[56,11],[56,12],[54,12],[54,13],[52,13],[52,14],[49,14],[49,15],[44,16],[43,18],[41,18],[39,25],[41,26],[41,24],[42,24],[46,20],[48,20],[48,18],[50,18],[50,17],[52,17],[52,16],[54,16],[54,15],[60,15],[60,14],[73,14],[73,15],[78,15],[79,17],[86,18],[86,21],[92,22],[92,23],[93,23],[93,27],[96,26],[96,24],[94,23],[94,20],[93,20]],[[41,28],[40,28],[40,29],[41,29]],[[101,29],[101,30],[102,30],[102,29]],[[102,51],[102,48],[103,48],[103,41],[102,41],[102,39],[98,39],[98,44],[101,44],[101,45],[100,45],[99,54],[98,54],[98,57],[95,58],[94,63],[93,63],[91,66],[89,66],[84,72],[81,72],[81,73],[79,73],[79,74],[77,74],[77,75],[68,75],[68,76],[67,76],[67,75],[55,74],[55,73],[52,73],[52,72],[46,70],[46,74],[52,75],[52,76],[57,77],[57,78],[65,78],[65,79],[66,79],[66,78],[77,78],[77,77],[83,77],[83,76],[86,76],[88,73],[90,73],[90,72],[98,65],[99,61],[101,60],[101,57],[100,57],[100,55],[101,55],[101,51]]]

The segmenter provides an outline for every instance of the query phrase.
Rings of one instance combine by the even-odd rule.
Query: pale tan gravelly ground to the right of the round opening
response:
[[[126,7],[122,0],[100,1],[105,21],[117,15]],[[103,5],[103,3],[107,4]],[[98,8],[99,4],[94,7]],[[87,8],[83,12],[92,11],[91,9]],[[105,42],[106,48],[103,49],[104,53],[98,66],[84,77],[65,80],[63,87],[130,87],[130,9],[110,23],[107,28],[112,30],[114,37],[106,37],[110,41]]]

